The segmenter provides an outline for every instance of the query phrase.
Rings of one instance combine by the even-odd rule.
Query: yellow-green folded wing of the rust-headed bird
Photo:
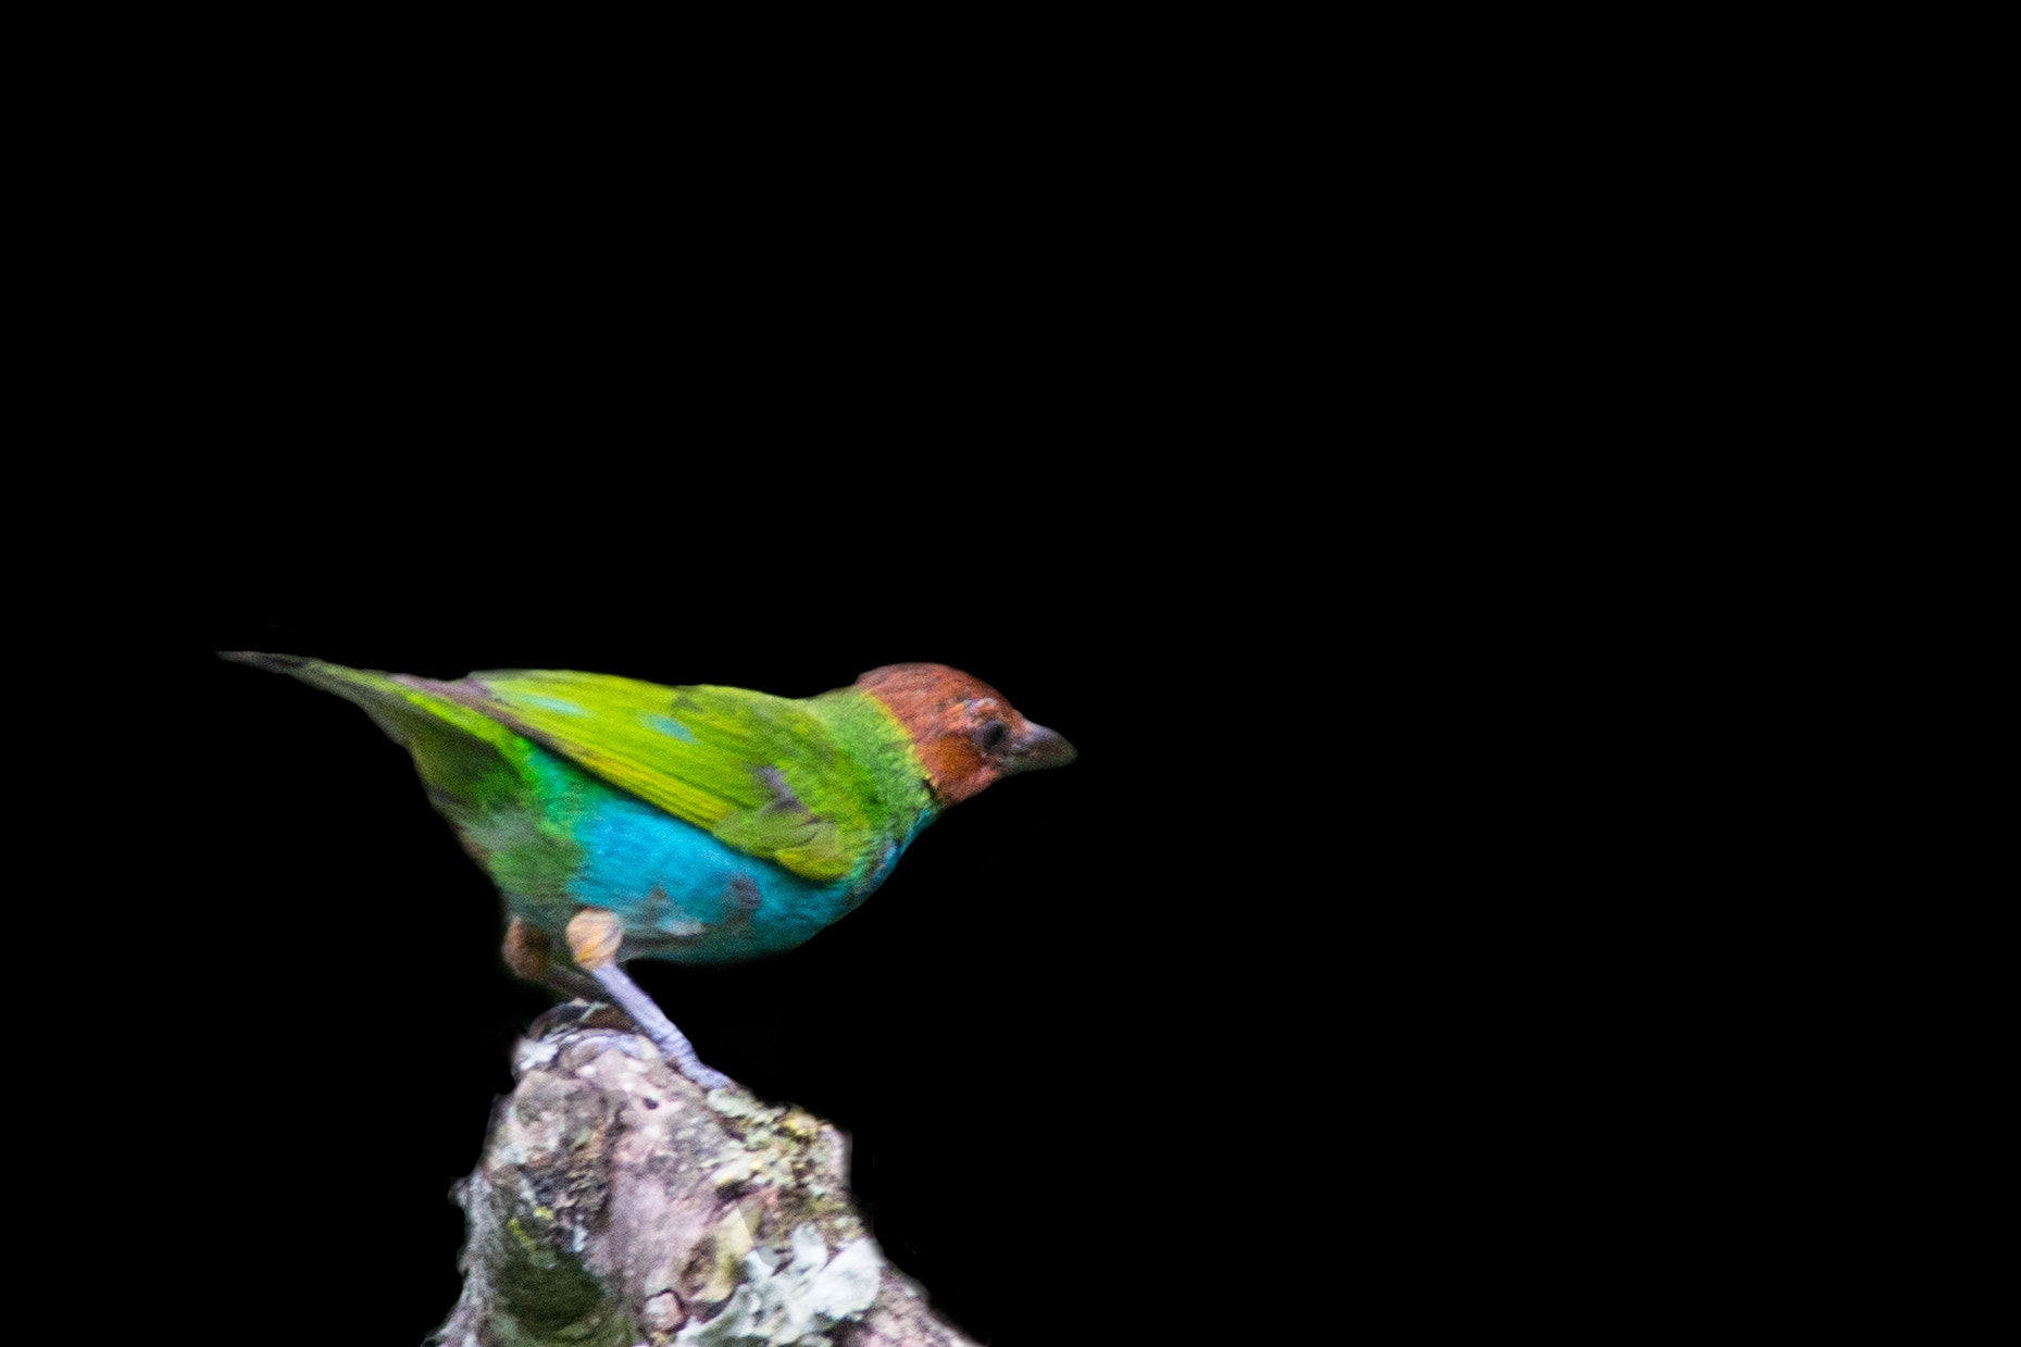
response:
[[[459,700],[570,762],[810,880],[877,851],[875,795],[814,704],[610,674],[471,674]]]

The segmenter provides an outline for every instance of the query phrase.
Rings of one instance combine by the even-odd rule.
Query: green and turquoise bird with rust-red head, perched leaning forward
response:
[[[428,801],[505,896],[513,973],[594,995],[586,973],[705,1088],[728,1078],[618,961],[792,949],[883,884],[942,809],[1075,756],[940,663],[893,663],[792,700],[560,669],[439,682],[224,657],[362,706],[414,754]]]

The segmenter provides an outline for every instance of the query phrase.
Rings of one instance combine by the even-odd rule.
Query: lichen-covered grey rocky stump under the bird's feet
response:
[[[863,1230],[841,1131],[703,1094],[608,1011],[548,1025],[459,1187],[463,1296],[428,1347],[972,1347]]]

